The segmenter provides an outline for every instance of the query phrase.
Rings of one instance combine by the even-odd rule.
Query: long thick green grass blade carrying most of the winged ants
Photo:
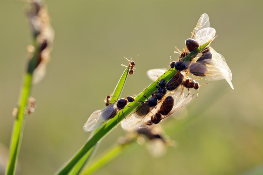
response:
[[[200,53],[207,45],[210,44],[212,40],[209,42],[203,44],[202,46],[199,46],[197,49],[193,50],[190,54],[188,54],[186,57],[183,58],[183,61],[190,61],[191,58],[194,58],[198,53]],[[167,70],[163,75],[160,76],[160,79],[164,79],[166,82],[170,80],[178,71],[175,69],[169,69]],[[144,97],[144,94],[147,98],[150,98],[151,94],[157,90],[156,83],[158,80],[155,80],[151,85],[147,87],[147,90],[143,90],[135,100],[137,101],[145,101],[146,98]],[[86,144],[80,148],[79,152],[75,154],[75,156],[68,162],[60,171],[58,174],[64,175],[71,171],[71,169],[75,166],[75,164],[83,157],[86,152],[88,152],[98,141],[101,140],[109,131],[111,131],[121,120],[123,120],[123,117],[128,116],[132,111],[134,111],[137,108],[137,102],[133,101],[128,104],[129,106],[124,107],[122,112],[117,114],[114,118],[112,118],[110,121],[108,121],[99,131],[97,131],[94,136],[86,142]],[[118,117],[119,116],[119,117]]]

